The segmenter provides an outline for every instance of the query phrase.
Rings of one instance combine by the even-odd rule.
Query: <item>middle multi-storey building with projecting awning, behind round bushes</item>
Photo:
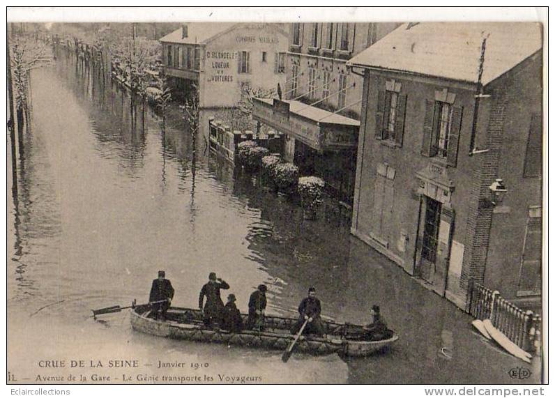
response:
[[[286,135],[284,159],[294,162],[303,175],[324,178],[329,192],[349,205],[363,77],[346,63],[398,25],[290,24],[282,101],[275,101],[275,106],[268,101],[254,105],[257,121]]]

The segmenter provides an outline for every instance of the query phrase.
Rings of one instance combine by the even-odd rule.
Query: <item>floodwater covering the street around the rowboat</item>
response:
[[[31,98],[15,197],[8,172],[8,371],[17,382],[522,383],[508,374],[515,367],[531,370],[524,382],[540,379],[537,359],[526,365],[485,342],[468,315],[350,236],[333,208],[305,221],[287,198],[234,174],[205,150],[207,114],[193,164],[176,109],[162,132],[148,106],[131,112],[126,93],[63,53],[33,71]],[[211,271],[243,311],[261,282],[267,312],[282,316],[316,286],[324,316],[365,323],[377,303],[400,339],[370,358],[294,354],[284,364],[279,351],[142,335],[126,311],[91,318],[93,308],[148,300],[159,269],[174,305],[196,307]]]

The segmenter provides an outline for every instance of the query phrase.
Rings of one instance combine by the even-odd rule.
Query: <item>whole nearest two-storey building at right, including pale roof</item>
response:
[[[365,75],[352,234],[459,307],[471,280],[539,303],[541,26],[406,24],[349,65]]]

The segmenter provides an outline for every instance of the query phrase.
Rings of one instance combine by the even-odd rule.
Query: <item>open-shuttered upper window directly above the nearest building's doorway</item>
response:
[[[453,102],[449,101],[426,100],[423,144],[420,153],[429,158],[445,159],[448,166],[455,167],[461,122],[461,107],[455,107]]]

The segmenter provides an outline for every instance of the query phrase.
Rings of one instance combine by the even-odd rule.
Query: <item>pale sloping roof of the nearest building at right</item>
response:
[[[542,49],[535,22],[425,22],[403,24],[348,65],[478,82],[486,40],[482,84],[488,84]]]

